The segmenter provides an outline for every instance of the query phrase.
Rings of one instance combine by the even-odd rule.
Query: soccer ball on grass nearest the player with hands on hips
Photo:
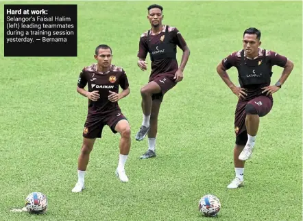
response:
[[[207,194],[199,200],[199,211],[204,216],[216,216],[221,209],[221,202],[217,196]]]

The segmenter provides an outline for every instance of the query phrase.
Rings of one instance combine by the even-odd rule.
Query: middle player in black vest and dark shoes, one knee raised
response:
[[[141,35],[139,41],[138,62],[141,70],[147,70],[145,59],[149,53],[151,73],[149,82],[141,88],[143,122],[136,133],[136,141],[142,141],[148,135],[148,150],[141,159],[156,156],[156,135],[158,114],[163,96],[183,79],[183,71],[189,59],[189,47],[176,27],[162,25],[164,18],[160,5],[150,5],[147,19],[151,29]],[[178,67],[177,46],[182,49],[182,60]]]

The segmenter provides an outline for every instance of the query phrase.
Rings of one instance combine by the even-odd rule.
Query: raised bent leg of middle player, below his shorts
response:
[[[149,82],[141,89],[141,107],[143,110],[143,122],[136,133],[136,141],[142,141],[149,131],[149,121],[151,115],[152,96],[161,93],[161,87],[154,81]]]

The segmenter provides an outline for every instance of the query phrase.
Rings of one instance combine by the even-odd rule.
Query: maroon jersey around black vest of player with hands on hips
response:
[[[224,58],[221,63],[226,70],[230,69],[231,67],[236,67],[239,73],[240,65],[241,65],[241,50],[236,51],[230,54],[228,57]],[[263,60],[264,49],[258,49],[258,57],[255,59],[245,58],[245,62],[247,66],[253,67],[260,65],[260,62]],[[245,56],[245,53],[244,53]],[[271,70],[274,65],[278,65],[279,67],[285,67],[287,58],[281,56],[280,54],[276,53],[275,51],[266,51],[267,56],[267,66]],[[278,80],[278,79],[277,79]],[[265,86],[269,86],[269,84],[253,84],[251,86],[245,86],[245,91],[247,93],[247,97],[245,100],[250,100],[258,95],[263,95],[262,89]]]

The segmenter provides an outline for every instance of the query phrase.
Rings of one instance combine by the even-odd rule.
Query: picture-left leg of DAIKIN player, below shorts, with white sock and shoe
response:
[[[82,191],[82,189],[84,189],[84,176],[86,172],[86,167],[88,165],[89,155],[90,152],[93,150],[95,140],[96,139],[88,139],[85,137],[83,138],[82,148],[78,158],[78,181],[75,187],[72,189],[73,192],[80,192]]]

